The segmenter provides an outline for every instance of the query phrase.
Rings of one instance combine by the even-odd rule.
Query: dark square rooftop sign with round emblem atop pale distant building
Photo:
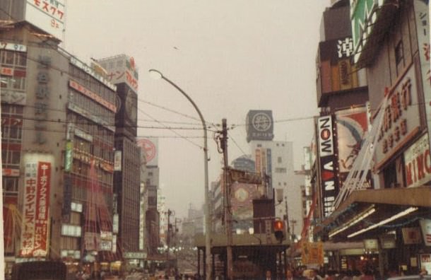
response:
[[[271,141],[274,138],[271,110],[249,110],[245,123],[247,142],[252,140]]]

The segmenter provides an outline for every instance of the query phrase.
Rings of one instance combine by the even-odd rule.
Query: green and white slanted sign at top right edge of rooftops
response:
[[[373,24],[377,21],[377,8],[382,6],[383,2],[384,0],[350,0],[355,63],[358,62],[360,52],[364,49],[367,37],[372,32]]]

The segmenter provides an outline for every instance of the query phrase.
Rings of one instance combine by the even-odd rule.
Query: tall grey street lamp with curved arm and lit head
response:
[[[199,117],[201,118],[202,127],[203,127],[203,171],[205,173],[205,252],[206,252],[206,279],[211,279],[211,231],[210,231],[210,201],[209,201],[209,189],[208,189],[208,137],[206,135],[206,123],[205,119],[199,110],[199,107],[191,100],[190,96],[185,93],[182,88],[179,88],[174,82],[170,81],[170,79],[163,76],[163,74],[155,69],[150,69],[150,76],[155,79],[163,78],[163,80],[170,83],[171,86],[177,88],[177,90],[182,93],[182,95],[190,101],[191,105],[193,105],[196,112],[198,112]]]

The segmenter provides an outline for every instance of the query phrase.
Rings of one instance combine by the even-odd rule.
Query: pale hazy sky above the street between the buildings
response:
[[[160,70],[186,91],[208,124],[222,118],[229,127],[235,124],[229,161],[249,153],[247,112],[272,110],[274,140],[293,141],[300,169],[302,147],[312,139],[311,117],[317,115],[315,57],[321,13],[329,2],[67,1],[64,47],[84,62],[116,54],[134,57],[138,136],[164,137],[159,139],[160,185],[167,207],[181,217],[189,204],[200,208],[203,203],[203,139],[187,141],[178,134],[201,137],[203,131],[175,129],[175,134],[165,128],[201,128],[201,123],[191,104],[165,81],[151,79],[148,69]],[[177,138],[165,138],[172,136]],[[211,131],[208,147],[211,182],[222,161]]]

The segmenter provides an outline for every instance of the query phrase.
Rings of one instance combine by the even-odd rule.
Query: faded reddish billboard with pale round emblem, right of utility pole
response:
[[[233,183],[232,184],[232,219],[237,221],[234,228],[248,231],[253,228],[253,199],[259,198],[256,185]]]

